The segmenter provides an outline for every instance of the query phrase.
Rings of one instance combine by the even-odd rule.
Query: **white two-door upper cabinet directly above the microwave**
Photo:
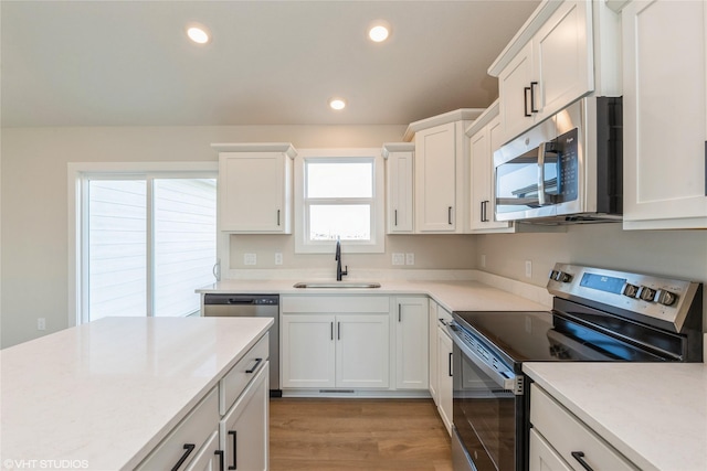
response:
[[[620,18],[603,1],[545,1],[490,65],[503,142],[594,90],[621,94]]]

